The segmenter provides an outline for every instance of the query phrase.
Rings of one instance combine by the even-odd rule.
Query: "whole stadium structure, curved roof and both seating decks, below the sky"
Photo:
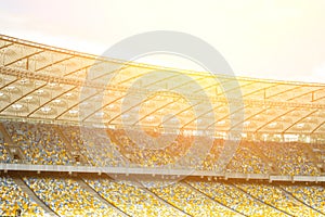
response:
[[[0,215],[325,216],[325,85],[221,73],[1,35]]]

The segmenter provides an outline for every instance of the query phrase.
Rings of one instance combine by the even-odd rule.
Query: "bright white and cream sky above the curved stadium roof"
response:
[[[325,0],[0,0],[0,34],[100,55],[134,34],[178,30],[213,46],[236,75],[313,82],[325,82],[324,24]]]

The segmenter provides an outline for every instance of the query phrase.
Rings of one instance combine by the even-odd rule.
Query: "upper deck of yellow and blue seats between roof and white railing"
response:
[[[2,139],[0,143],[2,163],[21,161],[28,164],[142,167],[169,165],[217,170],[221,167],[218,161],[225,145],[223,140],[216,139],[204,157],[199,157],[197,153],[205,145],[203,137],[179,135],[172,138],[173,136],[165,135],[151,140],[148,135],[134,130],[126,132],[18,122],[2,122],[2,125],[10,135],[13,145],[18,146],[23,153],[21,159],[13,158]],[[194,144],[197,141],[200,142],[199,145]],[[316,163],[325,161],[324,145],[318,145],[317,150],[321,151],[313,155],[313,149],[306,143],[242,141],[231,156],[232,159],[227,162],[225,171],[316,176],[321,174]],[[75,156],[78,156],[78,159]]]

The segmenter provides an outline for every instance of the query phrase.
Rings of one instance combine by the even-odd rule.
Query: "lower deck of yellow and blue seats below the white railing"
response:
[[[325,216],[325,187],[315,183],[199,178],[135,182],[57,174],[26,175],[24,181],[60,216]],[[22,216],[47,216],[8,175],[0,176],[0,196],[1,216],[13,216],[16,209]]]

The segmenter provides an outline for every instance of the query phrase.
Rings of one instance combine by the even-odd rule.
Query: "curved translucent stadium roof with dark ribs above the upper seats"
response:
[[[153,71],[161,73],[151,74]],[[180,124],[183,129],[195,129],[197,123],[209,123],[211,118],[207,114],[212,112],[212,125],[218,132],[240,125],[245,132],[325,133],[324,84],[166,68],[3,35],[0,36],[0,73],[3,118],[109,126],[141,124],[156,129]],[[183,79],[184,76],[191,79]],[[160,90],[153,91],[157,87]],[[212,106],[204,106],[207,102],[200,100],[202,95],[208,95]],[[188,103],[187,98],[195,99],[196,104]],[[236,110],[230,107],[231,102],[237,103]],[[132,113],[134,107],[139,108],[136,115]],[[195,113],[194,107],[199,112]],[[231,123],[231,117],[242,113],[243,107],[244,118]],[[174,114],[178,120],[167,114]]]

